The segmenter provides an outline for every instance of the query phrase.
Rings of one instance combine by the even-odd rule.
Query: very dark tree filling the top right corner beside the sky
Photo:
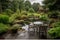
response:
[[[60,10],[60,0],[44,0],[43,4],[50,10]]]

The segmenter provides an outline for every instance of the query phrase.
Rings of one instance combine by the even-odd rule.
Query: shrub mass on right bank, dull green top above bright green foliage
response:
[[[53,28],[48,31],[48,34],[53,38],[60,38],[60,22],[53,23]]]

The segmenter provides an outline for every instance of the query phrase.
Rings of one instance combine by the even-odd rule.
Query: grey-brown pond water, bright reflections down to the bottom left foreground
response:
[[[43,24],[43,22],[32,22],[30,25],[33,26],[34,24]],[[26,25],[22,27],[22,29],[25,29],[25,31],[18,31],[17,34],[7,34],[4,36],[5,39],[39,39],[39,33],[34,32],[34,29],[29,30],[29,26]]]

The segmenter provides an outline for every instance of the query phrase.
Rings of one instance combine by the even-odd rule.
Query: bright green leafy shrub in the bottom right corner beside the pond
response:
[[[52,29],[48,30],[48,34],[52,38],[60,38],[60,27],[56,27],[56,28],[52,28]]]

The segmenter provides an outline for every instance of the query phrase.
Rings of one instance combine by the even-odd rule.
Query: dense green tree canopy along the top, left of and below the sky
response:
[[[5,11],[6,9],[10,9],[13,12],[16,12],[17,9],[25,11],[30,11],[32,8],[35,12],[39,10],[40,4],[34,3],[33,5],[29,0],[0,0],[0,11]]]

